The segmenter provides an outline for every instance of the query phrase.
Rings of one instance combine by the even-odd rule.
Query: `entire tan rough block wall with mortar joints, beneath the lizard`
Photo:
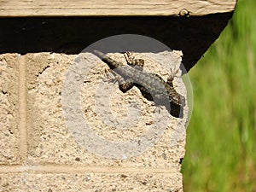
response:
[[[112,56],[125,62],[121,54]],[[136,56],[145,59],[146,71],[158,73],[166,80],[170,68],[179,66],[182,54],[172,51]],[[148,102],[136,87],[122,93],[113,82],[108,66],[90,53],[38,53],[22,57],[26,67],[26,90],[23,91],[26,93],[27,119],[26,137],[21,138],[26,139],[23,143],[26,156],[20,162],[19,57],[0,56],[0,98],[3,103],[0,119],[5,119],[0,122],[3,124],[0,131],[0,191],[183,191],[180,160],[185,153],[187,107],[183,119],[170,114],[161,118],[162,110],[156,108],[154,102]],[[172,63],[163,59],[165,57]],[[83,70],[89,73],[82,73]],[[68,81],[73,72],[74,79]],[[8,84],[3,84],[5,82]],[[78,87],[77,82],[80,82]],[[174,84],[185,96],[181,79],[175,79]],[[72,101],[76,90],[79,92],[79,108],[68,109],[67,102]],[[106,97],[109,97],[107,102]],[[83,128],[83,122],[68,124],[68,115],[75,122],[77,111],[90,129]],[[157,124],[156,121],[164,123]],[[160,127],[162,125],[164,128]],[[103,142],[96,145],[96,138],[91,136],[86,140],[91,132],[94,134],[91,136],[97,136]],[[145,132],[147,137],[144,137]],[[142,147],[146,143],[144,138],[151,142],[147,148]],[[120,146],[116,156],[115,143]],[[124,146],[128,147],[124,149]],[[22,165],[10,166],[18,163]]]

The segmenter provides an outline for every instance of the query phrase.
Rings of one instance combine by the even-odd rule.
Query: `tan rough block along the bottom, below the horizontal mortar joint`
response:
[[[180,174],[0,174],[1,191],[182,191]]]

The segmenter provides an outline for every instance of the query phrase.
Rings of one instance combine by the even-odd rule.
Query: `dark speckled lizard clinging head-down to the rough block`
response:
[[[108,67],[113,70],[113,74],[119,75],[123,79],[119,84],[119,90],[125,93],[135,85],[148,101],[154,101],[157,106],[165,106],[173,117],[183,118],[185,99],[173,87],[173,74],[165,82],[156,73],[144,72],[144,60],[134,59],[130,52],[125,53],[128,65],[113,60],[99,50],[92,50],[92,53],[108,64]]]

